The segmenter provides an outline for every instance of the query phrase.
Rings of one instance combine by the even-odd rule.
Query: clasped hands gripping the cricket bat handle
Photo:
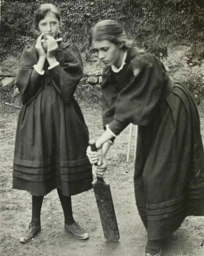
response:
[[[94,177],[103,177],[107,165],[105,156],[103,156],[102,149],[99,149],[98,152],[92,151],[91,147],[87,147],[87,157],[92,165],[92,174]],[[95,165],[97,164],[97,165]]]

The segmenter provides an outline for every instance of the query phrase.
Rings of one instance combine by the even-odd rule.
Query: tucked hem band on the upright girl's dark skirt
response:
[[[75,195],[92,188],[92,169],[87,157],[53,162],[14,159],[13,188],[29,191],[31,195],[46,195],[54,188],[63,195]]]

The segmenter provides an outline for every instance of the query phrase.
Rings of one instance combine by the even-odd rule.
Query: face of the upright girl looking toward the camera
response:
[[[59,26],[59,20],[57,19],[56,15],[51,11],[49,11],[46,14],[45,18],[40,20],[38,23],[38,29],[40,30],[40,32],[45,33],[44,38],[46,38],[46,34],[56,38],[59,31]]]

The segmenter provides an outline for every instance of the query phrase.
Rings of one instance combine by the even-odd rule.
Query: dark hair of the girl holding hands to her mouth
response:
[[[45,18],[48,12],[52,12],[56,15],[56,18],[61,23],[61,14],[59,9],[53,4],[41,4],[35,12],[34,30],[38,30],[38,23]]]

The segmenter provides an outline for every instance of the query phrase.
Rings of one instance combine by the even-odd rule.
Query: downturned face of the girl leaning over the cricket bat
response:
[[[121,65],[120,56],[121,56],[121,47],[113,44],[108,40],[96,41],[92,40],[92,46],[94,50],[98,52],[99,59],[106,65],[111,66],[115,65],[119,67]]]

